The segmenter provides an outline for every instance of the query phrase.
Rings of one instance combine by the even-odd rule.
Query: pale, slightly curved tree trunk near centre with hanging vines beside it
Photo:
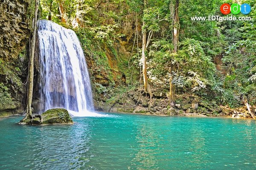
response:
[[[144,0],[144,8],[147,6],[147,0]],[[145,25],[145,22],[143,21],[143,26]],[[142,26],[142,27],[143,27]],[[150,99],[152,99],[152,92],[151,87],[148,84],[148,75],[147,75],[147,63],[146,63],[146,57],[145,57],[145,50],[146,50],[146,41],[147,33],[146,30],[142,31],[142,69],[143,69],[143,82],[144,82],[144,91],[145,93],[150,95]]]

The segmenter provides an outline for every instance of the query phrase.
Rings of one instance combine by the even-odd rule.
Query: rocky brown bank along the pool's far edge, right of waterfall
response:
[[[177,94],[175,108],[169,106],[168,91],[155,89],[152,99],[149,99],[138,88],[126,93],[100,95],[94,99],[96,111],[112,113],[140,113],[157,116],[230,116],[252,117],[245,105],[231,108],[221,105],[215,100],[209,101],[201,96]],[[166,92],[166,93],[165,93]]]

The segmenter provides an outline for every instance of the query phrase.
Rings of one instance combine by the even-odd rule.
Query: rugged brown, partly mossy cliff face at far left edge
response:
[[[0,0],[0,112],[14,113],[20,108],[24,93],[22,75],[26,73],[26,55],[21,53],[28,43],[28,0]],[[17,111],[17,110],[16,110]]]

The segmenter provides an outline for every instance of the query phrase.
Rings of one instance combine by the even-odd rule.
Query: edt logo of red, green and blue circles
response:
[[[240,12],[244,15],[247,15],[250,13],[250,5],[247,3],[244,3],[241,6],[237,3],[234,3],[231,6],[228,3],[224,3],[221,5],[222,14],[227,15],[230,13],[230,11],[234,15],[239,14]]]

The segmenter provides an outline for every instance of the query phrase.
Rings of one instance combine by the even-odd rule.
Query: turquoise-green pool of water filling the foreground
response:
[[[256,169],[255,120],[111,115],[48,126],[2,118],[0,169]]]

